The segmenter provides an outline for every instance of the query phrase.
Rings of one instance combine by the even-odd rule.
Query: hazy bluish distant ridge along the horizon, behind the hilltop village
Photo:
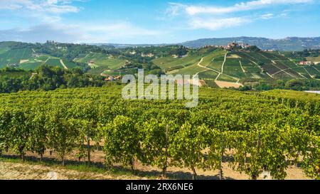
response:
[[[92,45],[107,46],[114,48],[130,48],[138,46],[161,46],[161,45],[184,45],[189,48],[201,48],[206,45],[227,45],[230,42],[241,42],[248,45],[257,45],[262,50],[279,50],[279,51],[302,51],[306,48],[320,48],[320,37],[299,38],[288,37],[282,39],[270,39],[260,37],[230,37],[230,38],[202,38],[195,41],[186,41],[183,43],[172,44],[114,44],[114,43],[97,43]]]

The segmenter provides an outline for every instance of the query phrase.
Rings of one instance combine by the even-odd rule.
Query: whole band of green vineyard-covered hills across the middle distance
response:
[[[313,54],[306,59],[319,60],[319,53],[316,52],[319,51],[312,50]],[[234,50],[217,46],[192,49],[181,45],[105,49],[96,45],[54,42],[3,42],[0,43],[0,68],[34,70],[46,64],[65,69],[85,68],[87,74],[105,77],[135,74],[138,68],[144,68],[151,74],[198,75],[206,83],[234,87],[260,80],[275,82],[319,79],[319,63],[299,65],[306,53],[292,54],[263,51],[254,46]]]

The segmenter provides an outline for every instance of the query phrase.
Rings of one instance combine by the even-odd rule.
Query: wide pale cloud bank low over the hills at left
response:
[[[0,41],[46,42],[48,40],[68,43],[107,43],[131,41],[132,38],[156,38],[164,31],[151,31],[127,22],[114,23],[47,23],[30,28],[12,28],[0,31]]]

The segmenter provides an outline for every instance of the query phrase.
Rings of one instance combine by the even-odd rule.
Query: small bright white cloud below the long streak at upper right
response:
[[[245,23],[250,23],[251,20],[247,18],[193,18],[189,25],[191,28],[205,28],[210,31],[217,31],[223,28],[231,28],[235,26],[241,26]]]

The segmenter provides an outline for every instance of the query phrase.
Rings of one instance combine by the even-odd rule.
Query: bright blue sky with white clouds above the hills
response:
[[[180,43],[320,36],[320,0],[0,0],[0,41]]]

